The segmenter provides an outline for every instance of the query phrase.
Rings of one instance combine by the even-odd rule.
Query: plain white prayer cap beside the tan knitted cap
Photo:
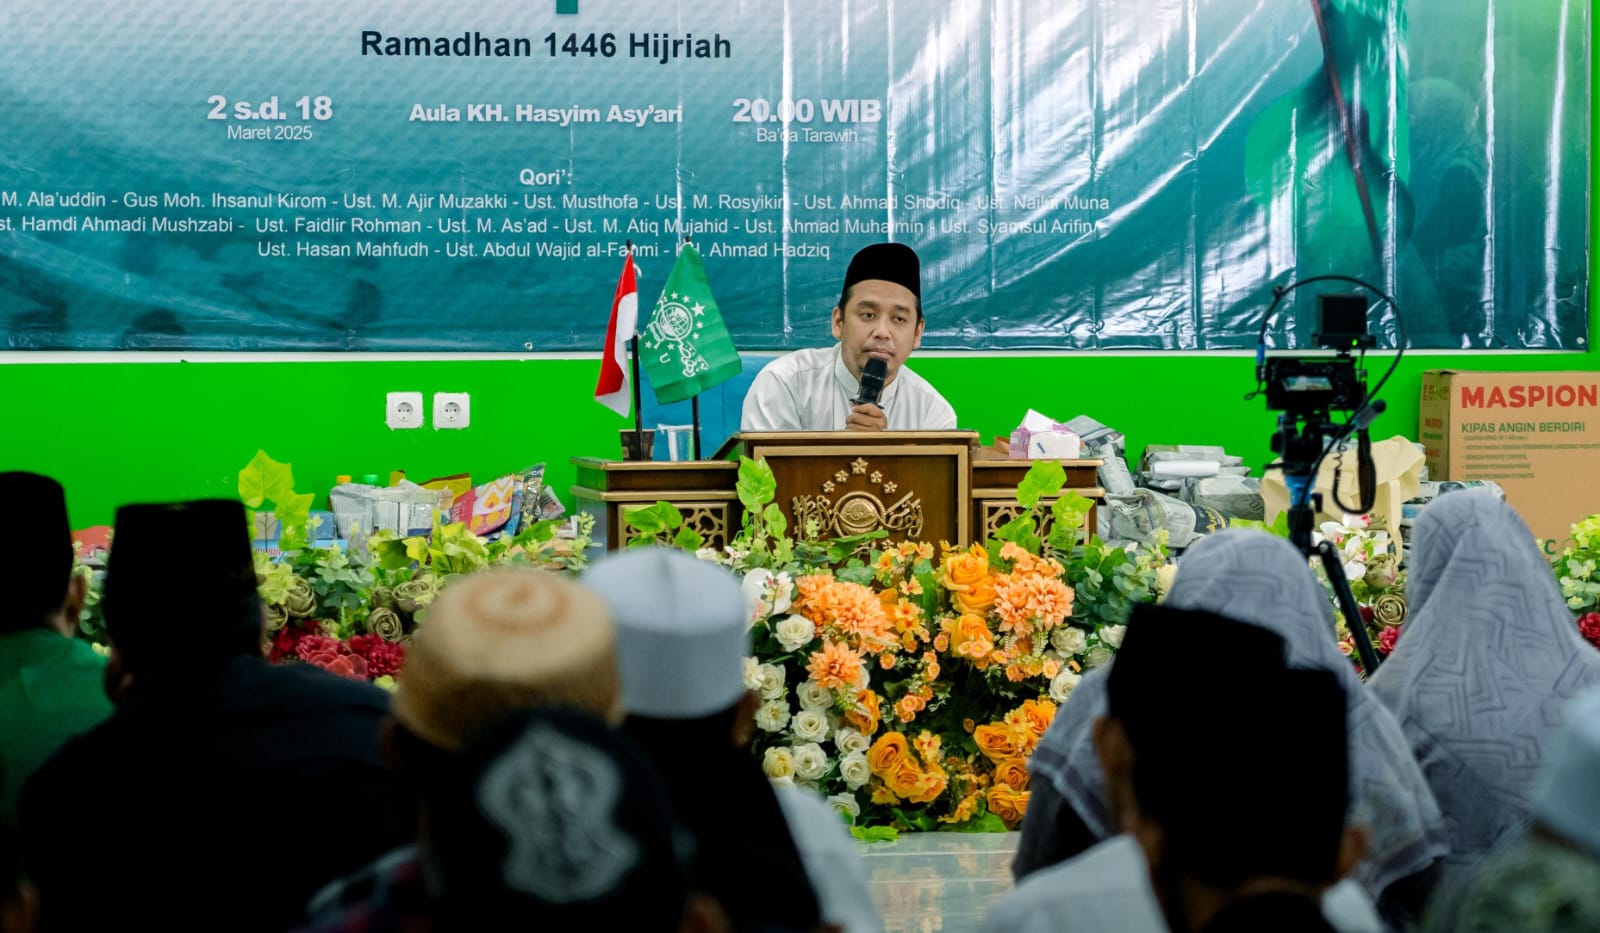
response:
[[[749,607],[738,578],[683,551],[645,547],[597,562],[582,583],[616,624],[624,711],[699,719],[739,701]]]

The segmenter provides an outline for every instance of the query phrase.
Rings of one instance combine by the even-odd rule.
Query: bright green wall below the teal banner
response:
[[[1590,133],[1595,123],[1590,118]],[[1590,230],[1594,224],[1590,210]],[[1589,261],[1592,282],[1592,250]],[[594,314],[605,314],[608,296],[610,286],[597,283]],[[1590,285],[1590,334],[1600,333],[1595,304]],[[296,487],[317,493],[338,474],[403,469],[418,480],[453,472],[482,480],[546,461],[547,477],[571,504],[568,458],[614,456],[616,430],[627,424],[590,400],[598,365],[598,358],[360,357],[0,363],[0,469],[59,479],[74,527],[109,523],[122,503],[232,496],[238,469],[258,448],[291,462]],[[974,355],[920,358],[914,366],[986,440],[1010,432],[1034,406],[1058,418],[1091,414],[1122,429],[1134,458],[1146,443],[1221,443],[1254,467],[1269,459],[1275,422],[1261,400],[1243,400],[1253,387],[1245,355]],[[1387,357],[1370,360],[1374,374],[1384,366]],[[1416,435],[1421,373],[1430,368],[1600,370],[1600,355],[1410,355],[1382,392],[1389,411],[1374,426],[1378,437]],[[392,390],[470,392],[472,426],[392,432],[382,422],[384,395]]]

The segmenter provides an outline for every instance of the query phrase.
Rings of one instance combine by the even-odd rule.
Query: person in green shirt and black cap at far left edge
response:
[[[13,530],[0,536],[0,823],[22,781],[61,743],[107,715],[106,659],[74,635],[86,592],[72,573],[66,493],[38,474],[0,474]]]

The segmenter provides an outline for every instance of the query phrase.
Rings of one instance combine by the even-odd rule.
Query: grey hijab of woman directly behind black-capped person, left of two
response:
[[[1371,850],[1357,867],[1355,879],[1374,901],[1390,883],[1445,856],[1438,805],[1400,723],[1366,693],[1350,661],[1339,653],[1328,595],[1294,546],[1264,531],[1208,535],[1179,562],[1166,605],[1261,626],[1288,643],[1291,666],[1333,671],[1344,683],[1349,698],[1350,821],[1371,832]],[[1214,655],[1195,663],[1214,666],[1218,677],[1248,675],[1229,669],[1227,645],[1218,645]],[[1110,664],[1106,664],[1083,677],[1029,765],[1032,775],[1054,784],[1090,831],[1101,837],[1118,832],[1110,823],[1106,779],[1091,741],[1094,720],[1106,714],[1109,671]],[[1182,698],[1174,696],[1173,703],[1182,703]],[[1218,728],[1227,728],[1227,723],[1218,723]],[[1246,787],[1240,789],[1237,802],[1218,803],[1248,802]]]

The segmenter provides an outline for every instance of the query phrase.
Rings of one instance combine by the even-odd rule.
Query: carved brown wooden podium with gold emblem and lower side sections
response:
[[[765,459],[778,482],[774,503],[795,538],[862,535],[883,528],[891,541],[986,539],[1021,514],[1016,487],[1030,466],[978,446],[973,430],[744,432],[739,454]],[[1102,461],[1064,461],[1064,491],[1099,499]],[[738,461],[632,462],[573,458],[578,509],[595,517],[595,546],[627,544],[629,509],[667,501],[709,547],[738,535],[744,509],[736,491]],[[1093,514],[1090,515],[1093,527]]]

